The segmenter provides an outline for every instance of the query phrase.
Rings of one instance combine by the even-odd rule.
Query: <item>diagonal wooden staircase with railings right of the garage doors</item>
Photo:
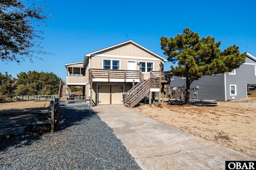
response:
[[[146,81],[141,80],[133,88],[124,94],[124,105],[129,108],[134,107],[138,102],[140,102],[146,95],[150,92],[150,89],[159,88],[161,86],[161,78],[156,78],[156,76],[150,72],[150,78]]]

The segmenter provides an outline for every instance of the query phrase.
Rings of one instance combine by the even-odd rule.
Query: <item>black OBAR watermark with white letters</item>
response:
[[[226,161],[226,170],[255,170],[256,161]]]

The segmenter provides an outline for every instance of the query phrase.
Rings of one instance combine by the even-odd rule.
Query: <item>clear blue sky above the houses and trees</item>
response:
[[[84,55],[132,39],[143,47],[167,58],[160,37],[175,37],[189,27],[200,37],[211,35],[221,41],[220,49],[240,47],[256,57],[255,0],[40,0],[48,6],[42,47],[55,55],[38,55],[17,64],[0,61],[0,72],[12,76],[36,70],[53,72],[66,80],[64,64],[83,61]],[[164,70],[172,63],[166,62]]]

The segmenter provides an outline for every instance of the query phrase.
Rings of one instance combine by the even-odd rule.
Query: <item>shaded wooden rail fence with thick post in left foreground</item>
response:
[[[21,127],[21,126],[28,126],[28,125],[46,125],[51,124],[51,133],[54,133],[54,123],[56,123],[56,120],[54,120],[54,113],[56,110],[60,107],[60,100],[56,98],[55,102],[50,105],[50,110],[32,110],[32,111],[16,111],[16,112],[10,112],[10,113],[0,113],[0,117],[8,117],[12,118],[14,116],[21,116],[21,115],[36,115],[37,120],[35,121],[24,121],[18,122],[18,123],[8,123],[8,124],[0,124],[1,128],[9,128],[9,127]],[[48,119],[49,115],[51,115],[50,120]]]

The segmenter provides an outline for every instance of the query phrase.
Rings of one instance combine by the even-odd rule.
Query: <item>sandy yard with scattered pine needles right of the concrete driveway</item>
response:
[[[137,112],[192,135],[256,157],[256,98],[183,105],[173,100]]]

